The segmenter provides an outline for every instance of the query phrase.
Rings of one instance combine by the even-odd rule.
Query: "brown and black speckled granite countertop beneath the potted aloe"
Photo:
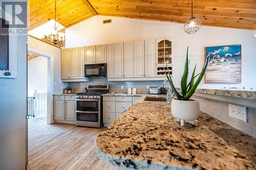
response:
[[[201,112],[184,127],[166,102],[141,99],[96,140],[106,161],[134,169],[255,169],[256,139]]]

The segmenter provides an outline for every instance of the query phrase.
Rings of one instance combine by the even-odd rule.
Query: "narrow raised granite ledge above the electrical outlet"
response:
[[[181,90],[181,88],[177,88],[177,90]],[[198,88],[196,89],[196,92],[256,100],[256,91],[246,91],[246,90],[237,90],[237,89],[224,90],[224,89]]]

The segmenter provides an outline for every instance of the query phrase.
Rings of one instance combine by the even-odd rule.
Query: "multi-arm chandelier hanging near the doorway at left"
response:
[[[54,45],[62,45],[63,41],[65,40],[64,33],[58,33],[59,27],[56,25],[56,0],[55,0],[55,22],[53,26],[53,32],[50,35],[45,35],[45,40],[53,43]]]

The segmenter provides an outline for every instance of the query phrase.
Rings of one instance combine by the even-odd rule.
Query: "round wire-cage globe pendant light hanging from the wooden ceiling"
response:
[[[194,34],[200,29],[201,25],[201,19],[193,15],[193,0],[191,0],[191,18],[186,21],[184,31],[187,34]]]

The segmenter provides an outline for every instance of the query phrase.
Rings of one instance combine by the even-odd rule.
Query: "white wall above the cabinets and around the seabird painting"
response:
[[[112,23],[103,25],[103,19],[112,19]],[[248,30],[202,27],[199,32],[189,35],[183,31],[183,24],[179,23],[97,15],[66,29],[66,47],[172,37],[174,82],[179,86],[187,45],[190,51],[190,70],[197,63],[197,72],[199,72],[204,62],[205,46],[242,44],[242,83],[204,84],[202,81],[199,88],[245,87],[249,90],[253,87],[255,90],[256,37],[254,34],[255,31]]]

